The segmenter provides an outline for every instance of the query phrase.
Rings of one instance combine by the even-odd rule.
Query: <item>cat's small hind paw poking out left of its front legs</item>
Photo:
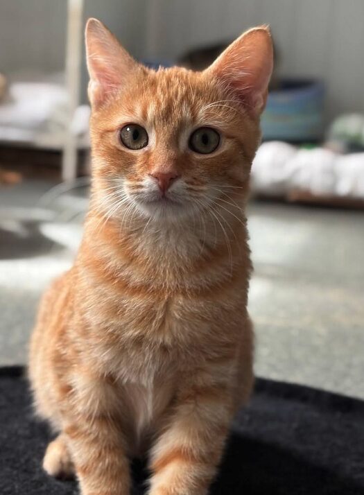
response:
[[[43,469],[55,478],[73,478],[74,466],[71,454],[62,435],[59,435],[47,447],[43,459]]]

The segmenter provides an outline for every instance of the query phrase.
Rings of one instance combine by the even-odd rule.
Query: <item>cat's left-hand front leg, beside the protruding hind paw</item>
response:
[[[129,495],[130,462],[117,390],[92,372],[73,379],[63,431],[82,495]]]

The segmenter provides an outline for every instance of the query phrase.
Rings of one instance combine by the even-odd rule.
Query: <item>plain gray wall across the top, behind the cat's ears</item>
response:
[[[67,0],[0,0],[0,71],[64,67]],[[192,46],[268,23],[279,72],[322,78],[327,116],[364,112],[364,0],[85,0],[137,58],[174,59]],[[87,76],[83,69],[83,93]]]

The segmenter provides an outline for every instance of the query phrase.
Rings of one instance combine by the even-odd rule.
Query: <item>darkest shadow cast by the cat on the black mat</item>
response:
[[[146,464],[132,464],[132,495],[148,493]],[[359,487],[336,473],[311,464],[290,451],[233,433],[209,495],[363,495]]]

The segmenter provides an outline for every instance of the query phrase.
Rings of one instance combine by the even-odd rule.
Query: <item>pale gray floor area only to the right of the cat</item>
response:
[[[364,214],[252,205],[257,374],[364,398]]]

